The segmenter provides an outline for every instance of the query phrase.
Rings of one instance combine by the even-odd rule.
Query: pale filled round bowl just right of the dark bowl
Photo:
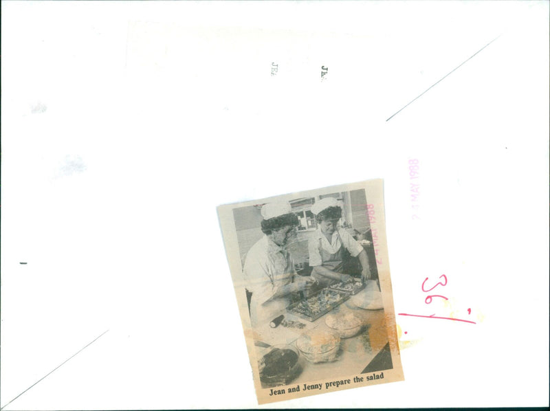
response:
[[[331,362],[338,355],[340,336],[331,331],[311,330],[298,337],[296,347],[309,362]]]

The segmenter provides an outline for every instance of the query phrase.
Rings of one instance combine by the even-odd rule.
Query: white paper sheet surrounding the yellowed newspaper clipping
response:
[[[396,313],[478,324],[398,317],[406,381],[269,406],[547,405],[548,15],[3,2],[0,405],[109,329],[5,410],[256,407],[216,206],[375,177]]]

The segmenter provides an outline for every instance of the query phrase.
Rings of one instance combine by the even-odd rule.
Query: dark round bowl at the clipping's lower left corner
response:
[[[294,346],[271,346],[258,362],[260,381],[267,387],[290,384],[302,373],[302,362]]]

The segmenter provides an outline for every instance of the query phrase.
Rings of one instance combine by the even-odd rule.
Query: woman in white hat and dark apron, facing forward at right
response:
[[[370,280],[371,271],[366,251],[346,230],[338,230],[338,221],[342,218],[342,208],[338,200],[325,197],[311,207],[311,212],[316,215],[319,224],[308,243],[309,265],[313,267],[311,276],[322,287],[338,281],[352,280],[351,276],[343,272],[347,250],[352,257],[359,258],[362,280]]]

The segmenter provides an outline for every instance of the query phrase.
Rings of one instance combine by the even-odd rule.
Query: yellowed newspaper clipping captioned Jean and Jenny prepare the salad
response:
[[[260,404],[404,379],[381,179],[218,214]]]

